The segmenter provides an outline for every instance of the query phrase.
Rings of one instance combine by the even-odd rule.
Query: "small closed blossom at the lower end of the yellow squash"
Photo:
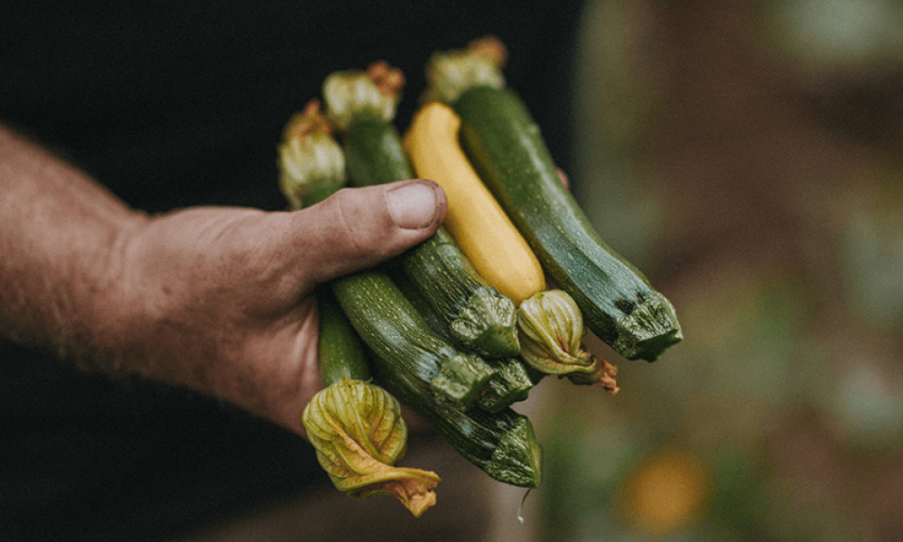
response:
[[[545,374],[567,376],[576,384],[599,382],[616,393],[617,369],[582,349],[586,337],[583,315],[571,295],[546,290],[526,299],[517,309],[520,356]]]

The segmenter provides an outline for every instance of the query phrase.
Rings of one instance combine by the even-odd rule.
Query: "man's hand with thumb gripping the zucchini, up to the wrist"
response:
[[[303,435],[303,407],[321,388],[313,287],[429,238],[446,208],[442,189],[411,180],[294,212],[151,219],[122,255],[116,362]]]

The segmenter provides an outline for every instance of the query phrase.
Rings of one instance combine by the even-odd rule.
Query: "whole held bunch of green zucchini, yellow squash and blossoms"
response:
[[[535,488],[541,448],[512,405],[548,374],[618,389],[615,368],[582,350],[584,322],[628,359],[656,360],[681,332],[665,297],[604,245],[563,187],[535,123],[504,88],[501,51],[483,41],[433,55],[430,99],[404,138],[393,125],[400,72],[377,62],[330,74],[325,112],[314,100],[301,122],[286,127],[280,186],[291,209],[346,183],[419,176],[442,186],[449,210],[433,238],[323,286],[330,301],[321,298],[321,393],[349,380],[373,385],[372,370],[380,389],[412,406],[471,463],[498,481]],[[360,351],[349,356],[358,338]],[[380,455],[380,445],[360,442],[359,428],[342,428],[360,419],[396,427],[391,401],[362,401],[353,422],[323,410],[323,402],[311,402],[304,425],[314,435],[329,418],[330,431],[311,441],[339,489],[393,493],[415,515],[433,505],[438,477],[391,468],[404,446]],[[371,451],[366,461],[361,450]],[[378,474],[361,474],[360,465],[374,461],[384,465]],[[376,485],[349,490],[351,471]]]

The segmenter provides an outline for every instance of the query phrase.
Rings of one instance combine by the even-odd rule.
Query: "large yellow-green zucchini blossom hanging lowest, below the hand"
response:
[[[304,408],[317,460],[351,497],[393,495],[419,518],[436,502],[435,472],[395,467],[407,449],[401,406],[385,389],[343,376]]]

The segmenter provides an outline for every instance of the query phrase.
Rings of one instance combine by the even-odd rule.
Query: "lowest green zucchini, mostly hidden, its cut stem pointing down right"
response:
[[[511,408],[489,413],[481,408],[461,412],[424,393],[393,364],[374,354],[373,370],[393,395],[430,422],[461,456],[492,478],[526,488],[542,479],[542,448],[529,418]]]

